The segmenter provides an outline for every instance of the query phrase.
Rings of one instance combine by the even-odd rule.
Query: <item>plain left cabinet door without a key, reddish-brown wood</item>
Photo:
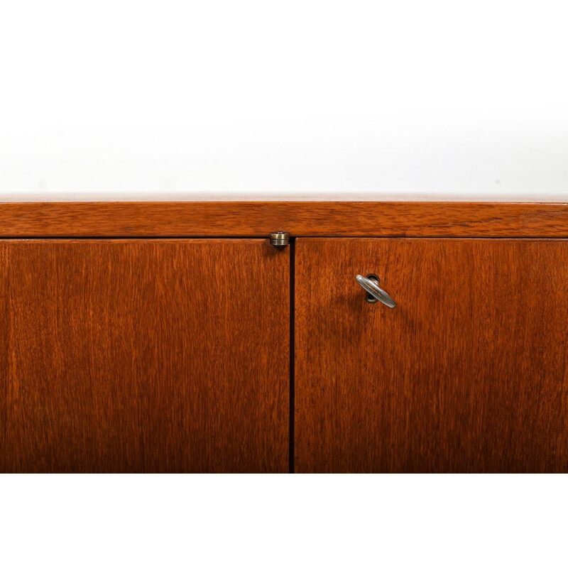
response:
[[[0,242],[2,471],[288,471],[290,252]]]

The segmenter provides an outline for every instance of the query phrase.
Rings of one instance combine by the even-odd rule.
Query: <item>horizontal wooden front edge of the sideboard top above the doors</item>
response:
[[[567,203],[1,203],[0,237],[568,237]]]

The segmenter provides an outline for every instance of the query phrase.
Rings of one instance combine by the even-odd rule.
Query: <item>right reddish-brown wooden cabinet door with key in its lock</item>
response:
[[[297,471],[568,471],[567,241],[297,239],[295,258]]]

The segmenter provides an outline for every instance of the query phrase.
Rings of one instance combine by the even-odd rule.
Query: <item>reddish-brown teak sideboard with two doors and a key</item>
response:
[[[567,238],[562,203],[0,204],[0,471],[567,472]]]

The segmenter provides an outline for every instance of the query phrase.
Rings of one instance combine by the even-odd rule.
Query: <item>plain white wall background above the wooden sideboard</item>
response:
[[[563,4],[4,0],[0,200],[568,201]]]

